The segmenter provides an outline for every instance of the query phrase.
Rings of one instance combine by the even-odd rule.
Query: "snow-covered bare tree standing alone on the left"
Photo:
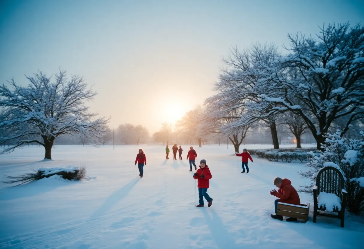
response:
[[[44,159],[51,159],[55,139],[64,134],[83,135],[92,144],[99,144],[108,119],[97,118],[88,112],[84,101],[96,95],[87,89],[84,79],[72,75],[66,78],[66,71],[55,75],[55,82],[39,72],[26,76],[28,86],[18,86],[14,79],[0,87],[0,130],[8,130],[10,137],[0,135],[0,144],[11,142],[12,146],[0,153],[12,152],[29,143],[38,143],[45,149]]]

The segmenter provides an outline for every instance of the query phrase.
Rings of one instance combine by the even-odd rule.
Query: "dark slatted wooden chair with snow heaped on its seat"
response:
[[[345,208],[347,191],[345,190],[345,180],[343,174],[334,167],[324,167],[318,171],[316,185],[313,186],[313,222],[316,223],[317,216],[327,216],[340,219],[340,226],[344,227]],[[325,206],[318,206],[318,197],[320,193],[336,194],[341,200],[341,208],[333,208],[333,213],[320,212],[325,211]]]

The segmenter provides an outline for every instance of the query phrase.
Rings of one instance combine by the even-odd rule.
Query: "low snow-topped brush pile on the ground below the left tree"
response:
[[[5,175],[8,180],[4,181],[7,184],[19,183],[17,185],[21,185],[24,183],[29,183],[33,181],[37,181],[43,178],[49,178],[54,175],[59,175],[66,180],[75,180],[79,181],[86,176],[86,168],[85,167],[56,167],[56,168],[39,168],[32,169],[33,173],[27,173],[19,176],[9,176]],[[15,186],[17,186],[15,185]]]

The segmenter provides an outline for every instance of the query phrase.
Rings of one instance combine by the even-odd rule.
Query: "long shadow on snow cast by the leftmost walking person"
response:
[[[115,191],[112,193],[105,202],[91,215],[90,220],[93,218],[100,217],[108,210],[112,208],[116,203],[121,201],[124,197],[128,195],[128,193],[133,189],[133,187],[139,182],[140,178],[133,179],[131,182],[129,182],[127,185],[123,186],[118,191]]]

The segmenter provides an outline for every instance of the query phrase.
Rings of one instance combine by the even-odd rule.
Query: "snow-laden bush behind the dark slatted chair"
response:
[[[364,132],[360,132],[364,139]],[[312,194],[317,173],[323,167],[333,166],[341,171],[348,192],[347,208],[349,212],[358,214],[364,211],[364,140],[341,137],[340,130],[335,134],[327,134],[323,151],[320,155],[311,152],[306,166],[308,171],[299,172],[303,178],[312,179],[312,183],[301,186],[300,191]]]

